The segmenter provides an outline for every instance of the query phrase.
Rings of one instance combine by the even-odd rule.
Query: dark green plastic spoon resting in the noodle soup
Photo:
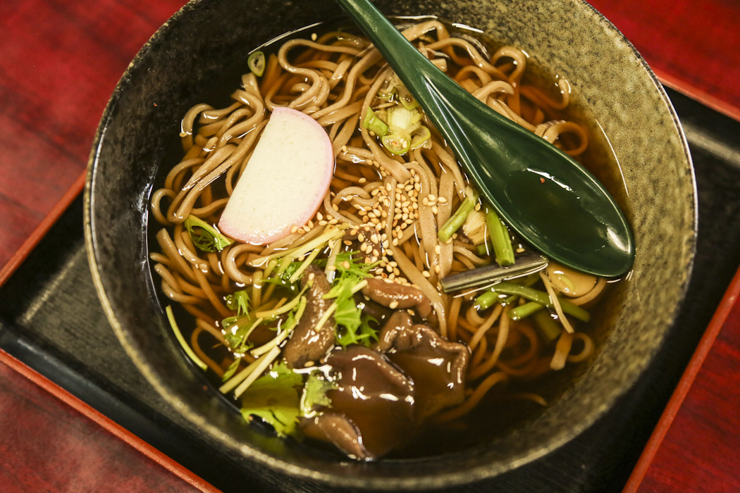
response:
[[[634,261],[627,220],[568,154],[502,117],[431,64],[369,0],[337,0],[423,107],[508,225],[542,254],[597,276]]]

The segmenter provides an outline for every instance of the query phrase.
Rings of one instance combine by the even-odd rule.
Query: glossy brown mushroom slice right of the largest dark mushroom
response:
[[[388,319],[378,344],[390,343],[386,356],[414,381],[416,417],[423,421],[465,400],[468,347],[444,339],[427,325],[408,327],[402,319]]]

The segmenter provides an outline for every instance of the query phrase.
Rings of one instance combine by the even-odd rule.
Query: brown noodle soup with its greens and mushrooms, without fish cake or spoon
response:
[[[234,67],[184,116],[152,194],[161,305],[172,307],[174,330],[212,386],[246,420],[280,435],[359,460],[485,443],[538,415],[578,378],[624,283],[551,265],[498,287],[443,293],[445,276],[506,262],[491,240],[495,213],[413,96],[343,25],[260,47],[256,69]],[[568,81],[474,30],[434,18],[406,28],[440,69],[576,157],[625,208],[606,136]],[[218,225],[279,106],[312,116],[332,138],[326,197],[283,239],[219,245],[220,232],[207,227]],[[466,200],[471,211],[440,239]],[[505,236],[514,258],[531,253],[513,232]],[[543,294],[551,306],[535,306]],[[331,341],[308,356],[297,334],[326,339],[327,327]],[[349,381],[351,372],[369,376]],[[372,391],[358,397],[363,389]]]

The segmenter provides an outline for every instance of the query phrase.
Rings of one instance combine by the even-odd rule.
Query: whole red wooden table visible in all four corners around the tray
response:
[[[115,83],[149,35],[183,3],[0,3],[0,283],[81,191],[92,137]],[[740,2],[591,3],[627,35],[665,84],[740,120]],[[628,483],[629,491],[740,491],[735,445],[740,443],[740,307],[732,297],[739,291],[736,277]],[[53,384],[9,358],[3,361],[3,491],[100,491],[101,485],[106,491],[119,491],[114,486],[138,491],[141,485],[209,491],[207,483],[168,463],[125,430],[117,432],[115,424]],[[62,446],[44,446],[50,430],[39,424],[50,417],[68,424],[54,430],[55,443]],[[137,449],[142,453],[130,453]],[[70,464],[88,465],[74,469]]]

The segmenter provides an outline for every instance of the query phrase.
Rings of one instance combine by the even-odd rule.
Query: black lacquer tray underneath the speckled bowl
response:
[[[699,239],[689,294],[644,377],[561,449],[445,491],[619,492],[740,265],[740,123],[667,89],[696,167]],[[87,266],[82,198],[0,287],[0,347],[224,492],[339,492],[225,455],[144,380],[110,328]],[[656,286],[660,289],[660,286]]]

